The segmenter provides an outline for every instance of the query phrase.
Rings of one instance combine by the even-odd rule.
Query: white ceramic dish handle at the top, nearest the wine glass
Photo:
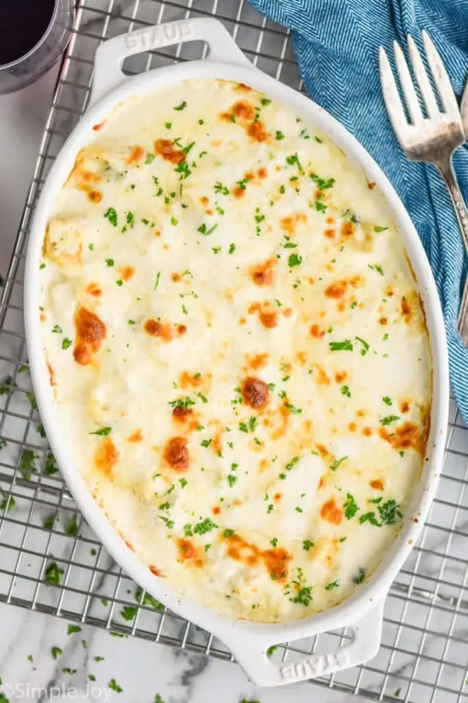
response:
[[[222,22],[213,18],[166,22],[164,25],[154,25],[121,34],[98,46],[91,104],[125,80],[122,64],[128,56],[144,51],[154,51],[163,46],[183,44],[186,41],[205,41],[208,46],[207,58],[210,60],[251,67]]]

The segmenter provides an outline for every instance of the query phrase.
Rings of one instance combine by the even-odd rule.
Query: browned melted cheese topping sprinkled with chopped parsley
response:
[[[399,533],[427,441],[427,330],[385,198],[241,84],[94,129],[41,264],[74,460],[179,593],[258,621],[326,610]]]

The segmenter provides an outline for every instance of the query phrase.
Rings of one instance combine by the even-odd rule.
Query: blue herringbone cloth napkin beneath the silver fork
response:
[[[309,96],[345,124],[392,181],[420,235],[441,297],[450,379],[468,422],[468,349],[456,318],[466,275],[464,249],[446,186],[434,167],[402,153],[380,90],[378,48],[392,52],[406,34],[420,48],[432,37],[460,97],[468,74],[468,0],[250,0],[293,32],[295,53]],[[468,200],[468,150],[454,159]]]

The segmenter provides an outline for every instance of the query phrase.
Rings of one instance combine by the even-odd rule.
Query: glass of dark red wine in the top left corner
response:
[[[0,0],[0,94],[43,75],[65,50],[74,0]]]

